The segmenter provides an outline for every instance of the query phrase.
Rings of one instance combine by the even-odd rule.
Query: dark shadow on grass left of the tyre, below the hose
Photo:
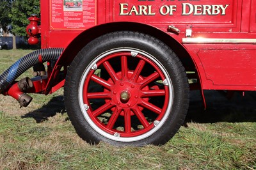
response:
[[[66,112],[64,97],[60,95],[58,97],[53,97],[48,104],[43,105],[40,109],[29,112],[21,118],[34,118],[36,123],[48,120],[49,117],[55,116],[57,113],[64,114]]]

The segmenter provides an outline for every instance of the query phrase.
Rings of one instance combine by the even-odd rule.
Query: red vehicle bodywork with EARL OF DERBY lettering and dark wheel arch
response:
[[[70,46],[76,53],[104,33],[140,31],[177,48],[182,53],[179,58],[190,58],[202,89],[255,90],[255,1],[84,1],[83,12],[70,27],[73,21],[71,17],[65,20],[65,12],[58,16],[61,23],[54,22],[54,5],[58,4],[41,2],[42,48]],[[89,40],[81,42],[84,38]]]

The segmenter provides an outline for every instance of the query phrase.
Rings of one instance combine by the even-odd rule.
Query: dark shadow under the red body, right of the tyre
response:
[[[186,122],[256,122],[256,91],[235,92],[228,99],[219,91],[204,91],[207,108],[202,108],[199,91],[191,91]]]

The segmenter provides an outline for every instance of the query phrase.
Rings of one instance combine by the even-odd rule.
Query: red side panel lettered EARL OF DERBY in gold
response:
[[[241,15],[240,0],[216,1],[113,1],[113,21],[148,24],[193,24],[193,27],[218,27],[219,31],[237,28]],[[221,29],[221,28],[227,29]],[[206,30],[206,29],[204,29]],[[209,31],[209,30],[208,30]]]

